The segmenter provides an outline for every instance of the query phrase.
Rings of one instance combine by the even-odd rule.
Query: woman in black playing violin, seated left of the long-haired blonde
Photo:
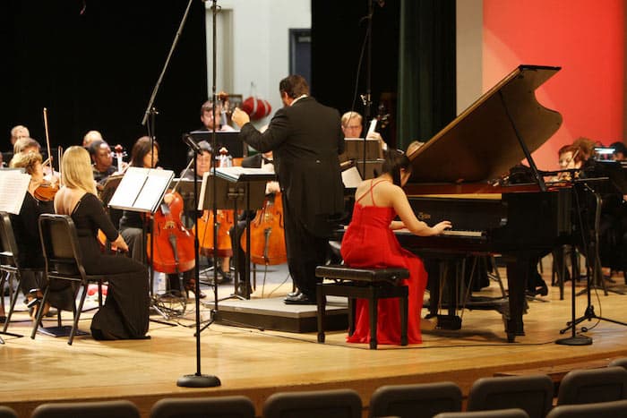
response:
[[[30,175],[29,189],[21,204],[20,213],[11,215],[11,224],[19,254],[18,263],[21,271],[20,286],[27,297],[31,317],[37,314],[39,300],[43,297],[47,282],[43,276],[45,268],[44,254],[39,243],[39,215],[42,213],[55,213],[51,198],[39,200],[36,196],[41,193],[38,188],[44,183],[44,173],[41,164],[41,154],[36,151],[19,152],[11,160],[14,168],[24,168]],[[73,290],[68,283],[56,282],[50,289],[48,303],[44,308],[46,312],[49,306],[64,310],[72,310]]]

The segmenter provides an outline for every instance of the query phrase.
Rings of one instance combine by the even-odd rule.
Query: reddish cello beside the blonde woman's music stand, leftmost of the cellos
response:
[[[164,201],[153,215],[150,239],[154,242],[146,246],[154,269],[167,274],[193,269],[196,263],[193,232],[185,228],[181,219],[184,205],[180,193],[176,192],[179,183],[166,192]],[[151,248],[154,248],[154,257],[150,254]]]

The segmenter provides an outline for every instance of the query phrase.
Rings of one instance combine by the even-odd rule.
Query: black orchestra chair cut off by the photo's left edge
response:
[[[15,242],[15,235],[13,235],[13,226],[11,226],[11,218],[6,212],[0,212],[0,272],[2,277],[0,278],[0,289],[4,289],[4,286],[9,286],[9,310],[6,312],[6,318],[4,318],[4,327],[1,334],[12,335],[21,337],[19,334],[8,334],[6,330],[9,328],[13,311],[15,310],[15,303],[20,296],[20,281],[22,269],[18,263],[19,249]],[[15,280],[15,286],[13,286],[13,280]],[[4,308],[4,297],[2,298],[2,306]],[[2,343],[2,338],[0,338]]]

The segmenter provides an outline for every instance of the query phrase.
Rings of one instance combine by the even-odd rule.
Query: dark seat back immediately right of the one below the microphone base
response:
[[[263,418],[361,418],[362,402],[353,389],[278,392],[263,403]]]

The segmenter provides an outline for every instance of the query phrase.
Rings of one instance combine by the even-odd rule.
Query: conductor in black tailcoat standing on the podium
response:
[[[232,120],[241,127],[240,138],[260,152],[273,151],[274,168],[283,195],[289,274],[299,292],[285,303],[315,303],[315,268],[324,264],[332,218],[344,210],[339,154],[344,151],[339,112],[309,96],[300,75],[279,83],[284,107],[259,132],[245,112]]]

